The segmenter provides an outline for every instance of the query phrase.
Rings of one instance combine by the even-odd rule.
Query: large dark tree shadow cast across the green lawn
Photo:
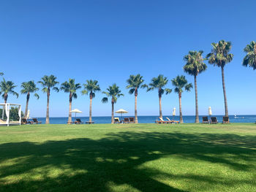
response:
[[[170,174],[138,166],[167,155],[179,155],[181,161],[208,161],[250,171],[255,169],[255,141],[255,136],[235,134],[119,132],[99,140],[7,143],[0,145],[0,191],[112,191],[111,186],[124,191],[125,185],[138,191],[184,191],[154,180],[159,176],[169,181],[252,184],[250,180]],[[20,180],[8,182],[20,174]]]

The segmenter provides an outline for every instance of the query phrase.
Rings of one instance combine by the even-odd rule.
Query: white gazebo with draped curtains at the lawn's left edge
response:
[[[18,107],[19,120],[10,119],[11,107]],[[21,124],[21,105],[20,104],[0,104],[0,109],[2,109],[0,114],[0,126],[10,126],[10,125],[20,125]],[[5,116],[4,116],[5,113]]]

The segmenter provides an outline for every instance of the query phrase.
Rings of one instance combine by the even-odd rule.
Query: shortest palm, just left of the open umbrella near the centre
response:
[[[124,96],[121,93],[119,87],[114,83],[112,86],[108,86],[107,91],[103,91],[102,93],[106,94],[107,97],[102,98],[102,103],[108,102],[108,97],[111,97],[111,105],[112,105],[112,112],[111,112],[111,123],[114,123],[114,104],[116,103],[117,99],[120,96]]]

